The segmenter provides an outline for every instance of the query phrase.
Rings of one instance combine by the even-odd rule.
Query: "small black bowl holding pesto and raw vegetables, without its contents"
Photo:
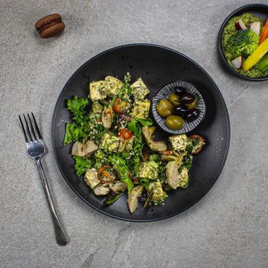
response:
[[[225,55],[223,53],[223,48],[222,48],[222,35],[223,35],[223,29],[225,28],[226,24],[228,23],[228,21],[230,21],[231,18],[235,17],[235,16],[240,16],[243,13],[250,13],[254,16],[257,17],[261,17],[262,21],[264,22],[266,20],[266,18],[268,17],[268,5],[266,4],[248,4],[245,6],[241,6],[239,9],[235,9],[235,11],[233,11],[229,16],[227,16],[227,18],[225,18],[225,21],[223,21],[222,26],[220,27],[220,32],[218,35],[218,53],[220,56],[220,60],[222,60],[223,65],[225,66],[225,68],[227,68],[227,70],[230,71],[230,73],[232,73],[232,75],[235,75],[237,77],[240,78],[244,78],[246,80],[250,80],[250,81],[264,81],[264,80],[268,80],[268,77],[259,77],[259,78],[252,78],[252,77],[247,77],[245,75],[241,75],[240,73],[236,72],[228,63],[227,60],[225,59]]]

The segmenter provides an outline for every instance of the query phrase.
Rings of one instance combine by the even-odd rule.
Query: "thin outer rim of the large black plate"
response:
[[[219,171],[217,173],[217,176],[215,176],[215,180],[213,181],[211,187],[208,188],[208,190],[205,191],[203,193],[203,195],[201,195],[200,198],[197,201],[195,201],[194,203],[191,203],[190,205],[186,206],[186,208],[184,208],[183,210],[181,210],[181,211],[179,211],[177,213],[172,213],[172,214],[170,214],[168,216],[165,216],[165,217],[159,217],[159,218],[147,219],[147,220],[127,219],[127,218],[123,218],[123,217],[120,217],[120,216],[117,216],[117,215],[112,215],[110,213],[107,213],[107,212],[105,212],[105,211],[103,211],[103,210],[95,207],[95,205],[92,205],[90,202],[88,202],[87,200],[85,200],[85,198],[83,198],[82,195],[80,195],[79,193],[77,193],[77,191],[75,191],[75,188],[73,188],[73,186],[69,183],[68,179],[66,178],[65,173],[63,172],[63,169],[61,168],[61,166],[59,164],[59,161],[58,161],[58,157],[57,157],[57,154],[56,154],[56,148],[55,148],[55,139],[54,139],[54,133],[55,133],[54,125],[55,125],[56,111],[58,109],[58,106],[59,106],[61,97],[62,97],[63,93],[65,92],[65,88],[70,84],[70,81],[72,80],[73,76],[75,76],[85,65],[87,65],[88,63],[90,63],[92,60],[95,60],[95,58],[100,57],[101,55],[104,55],[105,53],[111,52],[112,50],[117,50],[117,49],[120,49],[120,48],[132,47],[132,46],[137,46],[137,45],[138,46],[151,46],[151,47],[154,47],[154,48],[161,48],[161,49],[164,49],[164,50],[168,50],[168,51],[171,51],[173,53],[176,53],[178,55],[181,55],[181,56],[187,58],[192,63],[194,63],[195,65],[197,65],[198,68],[200,68],[200,70],[202,70],[205,73],[205,75],[207,75],[207,77],[210,80],[210,82],[212,82],[215,85],[216,89],[218,90],[219,97],[220,97],[220,99],[223,102],[223,109],[224,109],[225,116],[226,116],[226,119],[227,119],[227,138],[226,138],[226,140],[227,140],[227,147],[226,147],[226,150],[225,150],[225,156],[224,156],[223,162],[222,162],[222,164],[220,166],[220,169],[219,169]],[[60,170],[60,173],[63,176],[63,178],[65,179],[66,183],[68,183],[68,186],[70,186],[70,188],[73,190],[73,192],[81,200],[83,200],[85,203],[87,203],[87,205],[90,205],[91,208],[94,208],[95,210],[99,211],[100,213],[102,213],[104,215],[107,215],[109,217],[115,218],[117,220],[124,220],[124,221],[127,221],[127,222],[135,222],[135,223],[149,223],[149,222],[155,222],[155,221],[158,221],[158,220],[165,220],[165,219],[171,218],[171,217],[173,217],[175,215],[178,215],[180,213],[183,213],[184,211],[186,211],[189,208],[191,208],[193,205],[197,204],[201,199],[203,199],[203,197],[208,193],[208,191],[210,191],[210,189],[213,188],[215,182],[218,181],[218,178],[220,176],[220,173],[223,171],[223,168],[225,166],[225,162],[227,160],[227,155],[228,155],[228,152],[229,152],[229,148],[230,148],[230,117],[229,117],[229,114],[228,114],[227,106],[225,104],[225,100],[224,100],[223,95],[220,92],[218,86],[213,81],[213,79],[210,77],[210,75],[198,63],[195,62],[195,60],[192,60],[187,55],[184,55],[183,53],[178,52],[177,50],[174,50],[173,48],[167,48],[167,47],[165,47],[163,45],[155,45],[155,44],[152,44],[152,43],[129,43],[129,44],[125,44],[125,45],[118,45],[118,46],[115,46],[113,48],[109,48],[107,50],[104,50],[101,53],[98,53],[97,55],[93,56],[92,58],[90,58],[89,60],[87,60],[85,63],[83,63],[80,66],[80,68],[78,68],[75,71],[75,73],[73,73],[73,75],[71,75],[71,77],[65,83],[63,89],[60,91],[60,94],[58,95],[58,99],[57,99],[57,101],[55,103],[55,107],[54,107],[54,111],[53,111],[53,117],[52,117],[52,121],[51,121],[51,140],[52,140],[52,145],[53,145],[53,156],[55,158],[55,162],[56,162],[56,164],[58,166],[58,169]]]

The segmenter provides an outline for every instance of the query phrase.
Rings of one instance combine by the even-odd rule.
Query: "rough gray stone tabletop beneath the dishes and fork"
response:
[[[220,65],[218,30],[250,1],[9,1],[0,4],[1,267],[267,267],[267,82],[238,80]],[[267,1],[259,1],[267,3]],[[58,12],[66,30],[42,40],[38,18]],[[83,203],[60,175],[50,139],[55,101],[87,59],[124,43],[156,43],[208,71],[230,113],[230,153],[205,198],[158,223],[108,218]],[[18,114],[38,114],[44,165],[70,237],[55,243],[38,171],[26,156]]]

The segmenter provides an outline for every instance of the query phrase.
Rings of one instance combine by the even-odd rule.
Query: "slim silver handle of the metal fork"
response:
[[[45,171],[43,170],[43,166],[41,164],[41,159],[38,159],[36,163],[38,166],[38,171],[40,173],[40,178],[41,178],[43,188],[45,191],[45,196],[48,200],[48,205],[49,205],[50,212],[53,218],[57,243],[58,245],[66,245],[68,243],[68,237],[65,233],[65,230],[63,229],[63,225],[60,223],[57,212],[55,210],[55,206],[54,206],[51,194],[50,194],[50,190],[48,188],[48,181],[45,178]]]

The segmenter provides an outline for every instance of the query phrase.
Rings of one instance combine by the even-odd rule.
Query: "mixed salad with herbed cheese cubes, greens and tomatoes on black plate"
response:
[[[124,80],[107,76],[89,88],[88,98],[68,100],[73,122],[66,124],[63,144],[74,142],[76,174],[92,193],[104,196],[104,205],[127,193],[134,213],[139,202],[163,205],[170,191],[186,188],[204,139],[181,134],[168,143],[155,140],[149,89],[141,78],[132,83],[129,73]]]

